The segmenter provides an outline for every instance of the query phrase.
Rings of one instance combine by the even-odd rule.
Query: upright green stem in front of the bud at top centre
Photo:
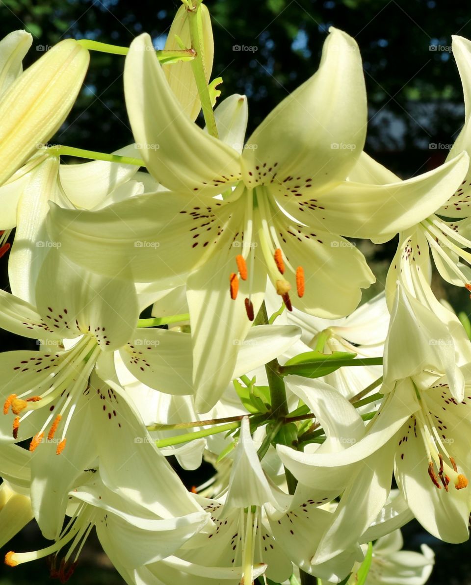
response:
[[[190,26],[191,47],[196,51],[195,58],[191,61],[191,67],[200,95],[201,108],[206,122],[208,133],[215,138],[218,137],[218,129],[216,128],[216,121],[214,112],[212,110],[211,97],[208,90],[208,82],[206,75],[206,64],[204,57],[204,39],[203,27],[201,19],[201,6],[198,5],[188,10],[188,25]]]

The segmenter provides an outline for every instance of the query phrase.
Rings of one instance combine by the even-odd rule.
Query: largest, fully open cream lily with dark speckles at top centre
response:
[[[125,263],[136,281],[160,281],[163,288],[187,281],[197,408],[204,412],[217,399],[211,387],[219,380],[225,386],[235,361],[236,350],[227,343],[229,332],[243,335],[248,326],[243,315],[246,312],[251,319],[256,314],[267,275],[288,308],[293,287],[298,294],[293,303],[312,314],[337,318],[352,312],[360,288],[368,287],[374,277],[362,254],[337,235],[343,224],[367,226],[367,235],[389,229],[393,215],[395,228],[401,229],[402,216],[409,225],[404,208],[413,209],[417,218],[425,205],[423,213],[428,215],[430,205],[435,209],[445,199],[444,190],[449,194],[460,183],[467,160],[463,155],[418,180],[387,189],[370,185],[362,194],[357,185],[345,181],[365,140],[366,98],[356,43],[339,30],[332,29],[326,40],[317,74],[267,116],[242,156],[181,111],[149,50],[151,44],[142,35],[130,47],[126,102],[136,141],[159,144],[158,150],[143,153],[147,167],[175,192],[166,197],[147,195],[97,214],[78,216],[54,208],[50,230],[54,237],[60,234],[64,253],[99,273],[110,274]],[[344,83],[348,91],[329,89]],[[156,95],[161,108],[150,116],[146,112]],[[332,95],[338,99],[342,95],[342,102],[333,104]],[[332,137],[351,148],[336,149]],[[337,229],[325,223],[331,208],[325,206],[330,206],[332,190],[342,181],[341,197],[334,198],[341,200],[341,207],[332,199],[332,221],[342,214]],[[236,188],[229,199],[211,198],[232,187]],[[318,212],[311,214],[314,223],[310,214],[298,213],[299,206]],[[298,215],[298,221],[291,219]],[[314,286],[314,280],[324,284]],[[216,323],[215,314],[218,326],[210,325],[208,331],[207,324]],[[225,355],[218,354],[228,366],[224,372],[214,371],[214,347],[218,352],[228,348]]]

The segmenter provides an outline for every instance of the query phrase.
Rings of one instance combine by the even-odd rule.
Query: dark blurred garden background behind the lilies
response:
[[[148,32],[162,49],[179,2],[124,0],[0,0],[0,36],[15,29],[33,35],[25,66],[47,47],[66,37],[129,46]],[[315,73],[329,26],[345,30],[360,46],[369,97],[365,150],[401,178],[444,161],[464,116],[462,87],[451,53],[451,35],[471,37],[471,9],[463,0],[208,0],[215,37],[212,78],[224,83],[221,99],[238,92],[249,98],[250,133],[264,116],[302,81]],[[252,51],[237,51],[245,45]],[[124,58],[91,54],[91,67],[73,111],[51,139],[102,152],[132,142],[122,90]],[[158,108],[156,103],[156,108]],[[1,211],[0,211],[1,213]],[[383,288],[397,240],[384,246],[359,243]],[[8,290],[6,261],[0,260]],[[435,283],[439,297],[469,314],[463,289]],[[3,349],[25,347],[19,338],[0,336]],[[30,349],[36,345],[30,346]],[[193,482],[185,478],[188,486]],[[469,543],[446,545],[425,534],[417,523],[404,529],[406,548],[427,542],[437,554],[431,584],[471,584]],[[46,545],[33,526],[8,547],[29,550]],[[46,562],[8,569],[0,565],[0,585],[46,583]],[[71,583],[122,583],[96,540],[90,539]]]

